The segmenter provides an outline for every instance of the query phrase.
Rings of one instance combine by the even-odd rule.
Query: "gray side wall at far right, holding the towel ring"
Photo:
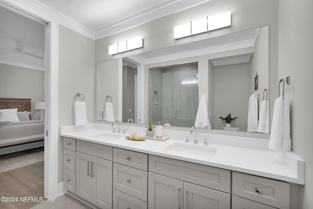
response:
[[[278,78],[291,76],[286,86],[290,98],[292,150],[305,160],[302,209],[313,208],[313,1],[279,1]],[[278,83],[270,88],[277,88]],[[271,92],[277,96],[276,91]]]

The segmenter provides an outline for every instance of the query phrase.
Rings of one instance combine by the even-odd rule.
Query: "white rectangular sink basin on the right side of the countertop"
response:
[[[165,149],[203,157],[213,157],[217,152],[217,149],[213,147],[182,143],[173,143],[165,147]]]

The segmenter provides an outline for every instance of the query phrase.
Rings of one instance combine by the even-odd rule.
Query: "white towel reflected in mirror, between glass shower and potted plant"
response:
[[[206,106],[206,99],[205,99],[204,93],[202,93],[202,96],[200,99],[195,126],[197,128],[200,128],[200,123],[201,123],[201,128],[211,129],[209,116],[207,114],[207,106]]]

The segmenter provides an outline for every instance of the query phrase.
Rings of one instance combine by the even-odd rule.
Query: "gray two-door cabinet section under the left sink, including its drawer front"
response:
[[[80,146],[94,155],[104,156],[103,150],[112,149],[100,144],[94,149],[94,145],[77,140],[77,150]],[[112,209],[112,161],[76,152],[76,195],[101,209]]]

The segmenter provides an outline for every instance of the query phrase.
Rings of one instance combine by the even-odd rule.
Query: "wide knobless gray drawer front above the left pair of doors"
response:
[[[112,146],[77,140],[76,151],[112,161]]]

